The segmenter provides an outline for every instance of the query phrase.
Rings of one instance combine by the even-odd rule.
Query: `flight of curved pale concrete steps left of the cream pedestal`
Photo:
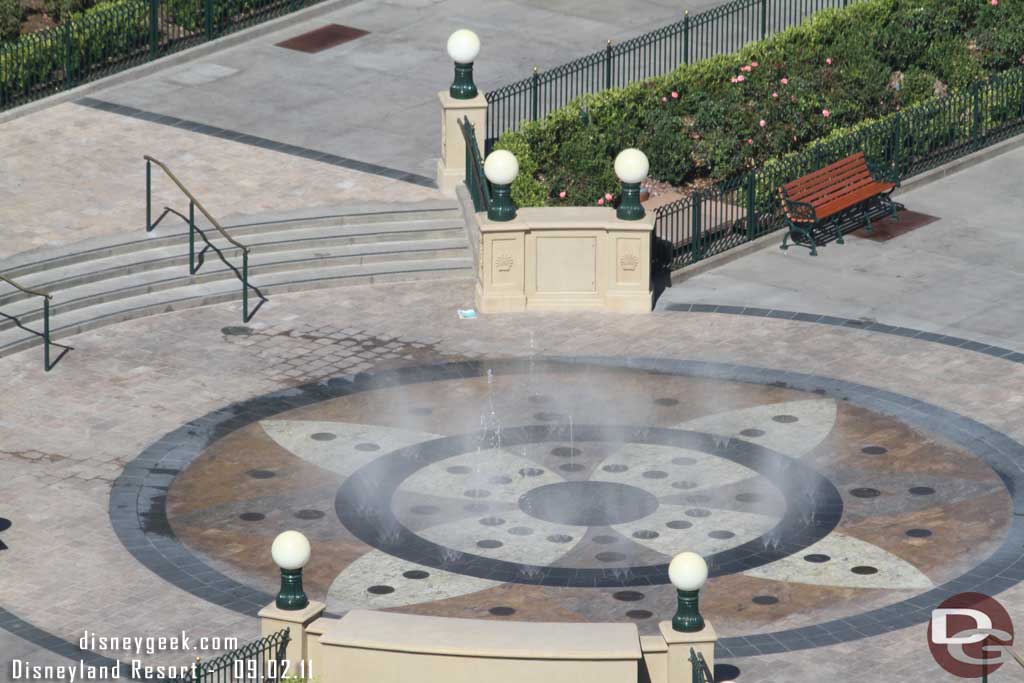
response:
[[[226,223],[227,221],[225,221]],[[337,214],[305,209],[240,217],[228,229],[249,249],[250,283],[265,295],[325,287],[468,279],[474,274],[465,222],[450,201],[348,207]],[[230,264],[242,251],[207,230]],[[197,239],[197,248],[205,242]],[[239,301],[242,283],[212,251],[188,274],[187,224],[176,216],[148,234],[113,236],[44,248],[0,260],[0,272],[53,295],[53,339],[144,315]],[[250,291],[251,305],[257,299]],[[42,328],[38,297],[0,288],[0,311]],[[0,317],[0,356],[42,340]]]

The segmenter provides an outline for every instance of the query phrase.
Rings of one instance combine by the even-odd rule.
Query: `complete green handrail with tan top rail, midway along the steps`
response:
[[[162,221],[169,213],[173,213],[182,220],[186,221],[188,223],[188,274],[195,275],[199,272],[199,269],[203,267],[203,263],[206,261],[207,250],[212,249],[213,252],[220,257],[221,262],[223,262],[223,264],[234,273],[234,276],[242,282],[242,322],[248,323],[253,318],[253,315],[256,314],[256,311],[260,309],[260,306],[266,303],[267,300],[266,297],[263,296],[263,293],[260,292],[259,288],[249,282],[249,248],[227,233],[227,230],[225,230],[220,223],[217,222],[216,218],[210,215],[210,212],[207,211],[202,204],[200,204],[199,200],[197,200],[190,191],[188,191],[184,184],[178,180],[177,176],[171,172],[171,169],[169,169],[166,164],[148,155],[145,155],[143,159],[145,159],[145,231],[152,232],[157,225],[160,224],[160,221]],[[174,184],[178,186],[178,189],[184,193],[184,196],[188,198],[187,216],[175,211],[171,207],[164,207],[164,211],[160,214],[157,220],[153,220],[153,164],[160,167],[161,170],[167,174],[167,177],[169,177]],[[220,237],[224,238],[228,244],[233,246],[242,254],[241,271],[234,266],[233,263],[227,260],[223,251],[210,242],[210,239],[206,236],[206,231],[196,224],[196,209],[199,209],[200,213],[206,216],[206,219],[217,229]],[[196,252],[197,234],[203,238],[203,242],[206,243],[206,246],[203,247],[203,250],[199,253]],[[259,298],[259,303],[256,304],[256,307],[253,308],[252,311],[249,310],[249,290],[252,290]]]

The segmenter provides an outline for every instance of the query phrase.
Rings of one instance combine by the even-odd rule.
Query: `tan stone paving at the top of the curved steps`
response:
[[[438,199],[428,187],[73,103],[0,125],[0,258],[145,228],[155,157],[221,222],[234,215]],[[154,216],[188,200],[153,173]]]

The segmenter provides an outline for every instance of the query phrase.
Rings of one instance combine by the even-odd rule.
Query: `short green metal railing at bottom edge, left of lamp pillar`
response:
[[[301,679],[307,672],[299,671],[302,665],[285,658],[290,629],[264,636],[247,645],[203,661],[197,657],[191,671],[163,683],[264,683],[285,679]],[[296,667],[292,670],[292,667]]]

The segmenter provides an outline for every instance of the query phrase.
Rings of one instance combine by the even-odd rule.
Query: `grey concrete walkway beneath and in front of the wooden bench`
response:
[[[1024,148],[1014,150],[900,195],[939,220],[887,242],[851,237],[812,257],[780,251],[779,232],[762,251],[666,290],[658,307],[801,310],[1024,348],[1022,164]]]

